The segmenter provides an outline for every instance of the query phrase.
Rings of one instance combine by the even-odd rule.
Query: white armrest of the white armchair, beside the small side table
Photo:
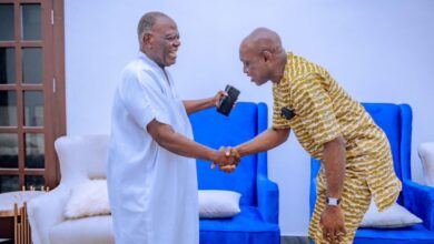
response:
[[[51,192],[29,202],[28,216],[34,244],[50,243],[50,230],[63,221],[63,209],[69,194],[70,189],[60,184]]]

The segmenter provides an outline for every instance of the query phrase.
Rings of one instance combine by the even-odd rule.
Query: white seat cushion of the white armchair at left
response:
[[[61,222],[51,228],[50,240],[52,244],[115,243],[111,215]]]

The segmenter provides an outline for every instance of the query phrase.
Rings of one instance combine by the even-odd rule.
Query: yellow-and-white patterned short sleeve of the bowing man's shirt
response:
[[[325,144],[341,135],[332,99],[322,85],[323,78],[312,73],[294,81],[292,95],[295,112],[317,144]]]

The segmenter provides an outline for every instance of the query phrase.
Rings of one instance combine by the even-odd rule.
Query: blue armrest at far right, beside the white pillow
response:
[[[434,231],[434,189],[412,181],[403,182],[405,207],[424,221],[425,227]]]

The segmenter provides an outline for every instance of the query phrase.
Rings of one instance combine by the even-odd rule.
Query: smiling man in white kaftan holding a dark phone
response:
[[[187,112],[215,105],[224,94],[180,100],[165,69],[175,63],[180,45],[169,17],[145,14],[138,34],[142,54],[125,68],[112,106],[107,175],[116,243],[197,244],[191,157],[225,164],[239,159],[194,142]]]

